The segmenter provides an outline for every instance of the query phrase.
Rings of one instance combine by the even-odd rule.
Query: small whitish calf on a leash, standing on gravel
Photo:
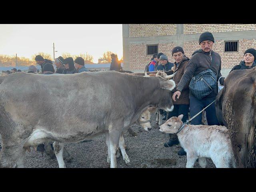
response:
[[[182,126],[182,117],[172,117],[167,120],[160,131],[177,133]],[[180,145],[187,152],[186,168],[193,168],[196,159],[202,168],[206,167],[206,157],[211,158],[216,168],[229,168],[234,165],[234,157],[228,129],[224,126],[185,125],[177,133]]]

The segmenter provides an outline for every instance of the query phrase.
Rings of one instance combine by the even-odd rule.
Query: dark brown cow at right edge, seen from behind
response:
[[[216,98],[216,113],[220,124],[229,129],[236,167],[255,168],[256,68],[228,75]]]

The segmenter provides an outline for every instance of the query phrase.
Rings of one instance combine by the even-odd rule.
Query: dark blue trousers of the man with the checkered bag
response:
[[[203,108],[207,107],[211,102],[215,99],[202,99],[198,100],[193,95],[189,96],[190,99],[190,118],[200,112]],[[208,108],[206,108],[206,119],[208,125],[220,125],[216,116],[215,111],[215,102],[211,104]],[[196,116],[192,121],[192,125],[200,125],[202,124],[202,113]]]

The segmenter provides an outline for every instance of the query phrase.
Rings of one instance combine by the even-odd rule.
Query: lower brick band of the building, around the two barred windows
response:
[[[162,52],[168,56],[170,62],[174,62],[172,58],[171,50],[177,46],[174,43],[158,44],[158,52]],[[224,40],[216,41],[213,46],[213,50],[220,54],[222,60],[222,68],[232,68],[238,65],[243,60],[244,51],[248,48],[256,47],[256,39],[253,40],[239,40],[238,52],[224,52],[225,42]],[[150,62],[152,55],[147,55],[146,44],[130,45],[130,70],[144,70],[146,64]],[[189,58],[191,58],[195,50],[200,49],[198,42],[184,42],[183,50]]]

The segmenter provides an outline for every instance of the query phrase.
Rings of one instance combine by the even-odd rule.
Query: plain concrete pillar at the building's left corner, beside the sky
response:
[[[123,59],[124,59],[124,70],[130,69],[130,54],[129,54],[129,24],[123,25]]]

